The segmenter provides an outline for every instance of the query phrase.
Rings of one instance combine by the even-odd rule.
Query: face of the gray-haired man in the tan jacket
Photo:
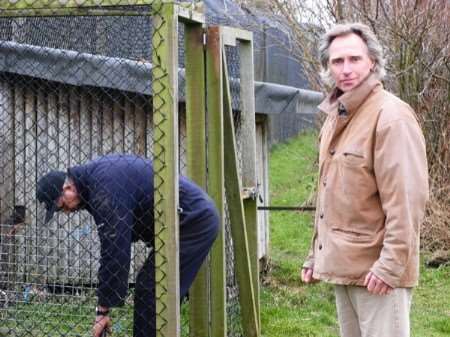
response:
[[[329,55],[331,76],[343,92],[358,86],[374,66],[366,44],[356,34],[336,37],[330,44]]]

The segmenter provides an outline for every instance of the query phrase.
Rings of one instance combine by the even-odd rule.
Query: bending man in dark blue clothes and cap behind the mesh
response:
[[[213,201],[200,187],[181,177],[180,188],[180,296],[186,296],[219,230]],[[134,155],[108,155],[52,171],[38,181],[37,198],[54,212],[87,210],[100,238],[98,307],[93,336],[109,330],[112,307],[124,303],[128,289],[132,242],[154,244],[153,166]],[[136,278],[134,336],[156,335],[155,270],[152,251]],[[170,290],[169,290],[170,291]]]

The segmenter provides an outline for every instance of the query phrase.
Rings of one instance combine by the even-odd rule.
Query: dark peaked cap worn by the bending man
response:
[[[36,197],[39,202],[45,203],[45,223],[49,222],[58,210],[57,201],[62,194],[66,173],[63,171],[50,171],[38,180]]]

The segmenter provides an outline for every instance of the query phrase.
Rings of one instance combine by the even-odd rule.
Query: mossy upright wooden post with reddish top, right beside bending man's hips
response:
[[[225,191],[223,140],[222,38],[220,27],[207,30],[206,88],[208,121],[208,194],[220,215],[220,232],[211,249],[211,336],[227,336]]]

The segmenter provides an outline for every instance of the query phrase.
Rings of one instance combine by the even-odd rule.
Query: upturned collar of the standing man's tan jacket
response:
[[[381,82],[374,74],[370,74],[356,88],[342,93],[338,88],[334,88],[325,100],[320,103],[319,109],[329,115],[337,115],[338,109],[345,109],[347,116],[351,116],[367,99],[374,90],[383,88]]]

